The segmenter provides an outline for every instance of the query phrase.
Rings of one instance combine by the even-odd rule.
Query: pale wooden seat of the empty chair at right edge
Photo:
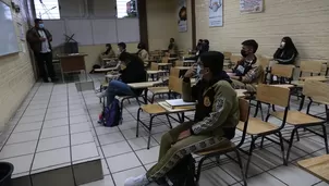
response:
[[[271,115],[277,119],[283,120],[284,112],[273,112]],[[325,121],[300,111],[288,111],[287,123],[291,125],[305,125],[321,122]]]

